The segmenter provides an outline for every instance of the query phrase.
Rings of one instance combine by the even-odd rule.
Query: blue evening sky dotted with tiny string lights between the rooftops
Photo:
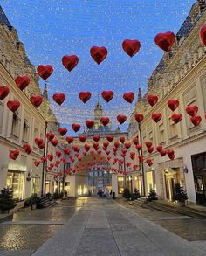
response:
[[[118,114],[127,120],[137,100],[138,87],[147,90],[147,81],[163,52],[154,44],[159,32],[180,29],[195,0],[2,0],[5,14],[16,29],[34,66],[50,64],[54,68],[48,91],[52,109],[62,126],[73,122],[84,126],[93,119],[98,93],[113,90],[109,103],[99,97],[116,128]],[[138,39],[141,50],[133,58],[123,52],[124,39]],[[92,46],[105,46],[106,59],[98,66],[90,56]],[[61,63],[64,55],[76,54],[79,64],[69,73]],[[40,80],[40,86],[44,81]],[[90,91],[84,104],[80,91]],[[133,91],[129,104],[123,93]],[[65,93],[62,107],[52,101],[53,93]],[[127,124],[120,126],[127,129]],[[72,134],[72,131],[71,131]]]

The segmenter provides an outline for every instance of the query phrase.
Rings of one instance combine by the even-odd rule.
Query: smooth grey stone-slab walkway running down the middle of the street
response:
[[[32,255],[198,256],[206,255],[206,246],[188,242],[111,199],[88,198]]]

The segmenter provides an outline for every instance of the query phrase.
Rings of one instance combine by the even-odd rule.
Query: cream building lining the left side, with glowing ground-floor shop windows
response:
[[[65,163],[55,165],[56,151],[64,151],[61,145],[53,147],[45,139],[45,134],[52,131],[58,136],[58,121],[50,109],[47,91],[42,94],[38,85],[38,74],[35,67],[27,58],[24,45],[19,41],[17,31],[12,27],[0,8],[0,84],[10,87],[9,95],[0,100],[0,189],[10,187],[14,198],[22,200],[31,194],[38,195],[45,192],[60,190],[60,181],[54,179],[59,170],[64,169]],[[15,79],[18,75],[27,75],[31,78],[30,85],[21,91]],[[35,108],[30,101],[31,95],[42,95],[43,103]],[[19,100],[20,107],[12,113],[6,106],[8,100]],[[41,137],[45,141],[45,149],[39,149],[35,138]],[[31,154],[26,154],[23,144],[31,145]],[[19,156],[12,160],[10,151],[19,150]],[[47,171],[49,161],[43,163],[41,158],[52,154],[53,165]],[[34,163],[39,161],[39,165]]]

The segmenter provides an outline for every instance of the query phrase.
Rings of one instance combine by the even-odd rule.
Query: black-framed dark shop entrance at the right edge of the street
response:
[[[206,152],[191,156],[196,204],[206,205]]]

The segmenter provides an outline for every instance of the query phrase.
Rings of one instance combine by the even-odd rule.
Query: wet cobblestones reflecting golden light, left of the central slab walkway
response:
[[[31,255],[82,207],[86,199],[59,201],[52,208],[17,211],[0,224],[0,255]]]

